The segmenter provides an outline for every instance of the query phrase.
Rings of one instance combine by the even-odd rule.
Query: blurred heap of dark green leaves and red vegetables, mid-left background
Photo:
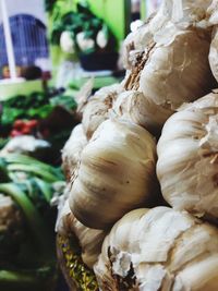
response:
[[[29,145],[27,148],[33,144],[36,147],[44,147],[41,143],[40,145],[37,143],[39,140],[46,141],[47,147],[50,147],[43,155],[37,155],[37,158],[50,163],[60,160],[60,149],[72,128],[78,123],[75,113],[76,101],[73,96],[70,89],[50,88],[44,93],[34,92],[28,96],[17,95],[3,100],[0,117],[0,148],[14,137],[25,136],[24,143]],[[35,142],[32,141],[34,137]],[[22,144],[22,138],[20,141]]]

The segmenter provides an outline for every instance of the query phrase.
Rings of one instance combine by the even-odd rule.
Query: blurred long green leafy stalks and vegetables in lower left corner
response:
[[[0,157],[0,290],[55,290],[51,199],[64,186],[60,168],[17,154]]]

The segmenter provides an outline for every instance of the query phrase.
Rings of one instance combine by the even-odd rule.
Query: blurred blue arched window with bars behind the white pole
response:
[[[4,2],[4,3],[3,3]],[[33,65],[39,66],[43,71],[50,70],[48,41],[46,37],[46,16],[44,1],[41,0],[0,0],[5,7],[8,24],[10,26],[12,60],[9,60],[10,40],[5,39],[5,20],[3,10],[0,13],[0,77],[9,77],[13,62],[16,68],[16,75],[20,75],[22,68]],[[5,15],[4,15],[5,16]],[[13,61],[14,59],[14,61]],[[11,68],[9,70],[9,66]],[[13,74],[11,74],[12,76]]]

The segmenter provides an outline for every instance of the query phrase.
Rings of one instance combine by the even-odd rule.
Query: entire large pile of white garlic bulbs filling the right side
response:
[[[63,149],[61,229],[102,291],[218,290],[217,25],[217,0],[162,0]]]

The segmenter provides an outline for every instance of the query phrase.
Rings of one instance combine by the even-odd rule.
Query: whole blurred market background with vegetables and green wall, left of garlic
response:
[[[68,290],[55,232],[61,149],[78,97],[122,81],[123,40],[159,4],[0,0],[0,290]]]

